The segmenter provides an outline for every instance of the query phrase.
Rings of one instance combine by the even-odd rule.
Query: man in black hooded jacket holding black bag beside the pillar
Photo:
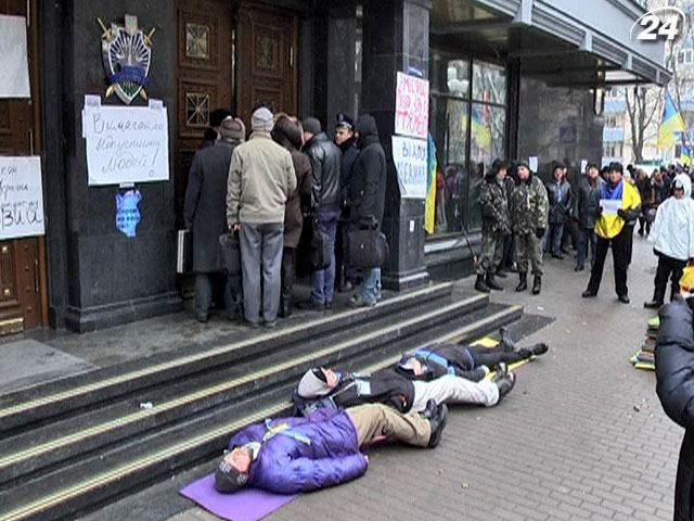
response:
[[[370,114],[357,120],[357,148],[349,183],[351,226],[381,229],[386,199],[386,154],[378,141],[376,120]],[[381,300],[381,266],[367,269],[359,292],[349,304],[372,307]]]

